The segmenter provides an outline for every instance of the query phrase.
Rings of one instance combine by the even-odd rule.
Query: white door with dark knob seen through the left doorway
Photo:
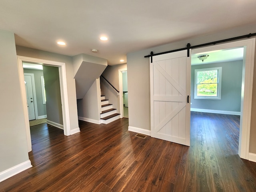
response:
[[[28,105],[28,118],[29,120],[36,119],[35,107],[34,107],[34,96],[32,88],[32,76],[24,75],[25,87],[26,87],[26,96],[27,96],[27,105]]]

